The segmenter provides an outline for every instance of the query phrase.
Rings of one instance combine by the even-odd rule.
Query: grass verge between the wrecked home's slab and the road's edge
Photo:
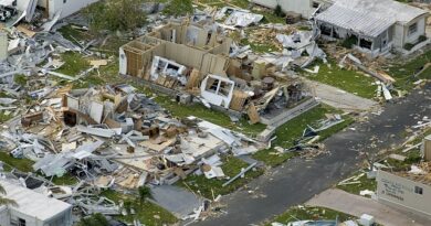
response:
[[[325,119],[325,114],[334,114],[338,112],[336,109],[330,108],[328,106],[317,106],[307,112],[302,114],[301,116],[287,121],[275,130],[275,136],[277,137],[272,147],[282,147],[282,148],[291,148],[295,144],[295,141],[302,137],[304,129],[307,125],[313,125],[315,121],[319,119]],[[338,123],[327,130],[319,132],[319,140],[324,140],[337,131],[346,128],[350,123],[354,122],[351,117],[345,117],[345,121]],[[253,154],[253,159],[260,160],[264,162],[266,165],[276,166],[286,160],[291,159],[295,155],[293,152],[288,153],[277,153],[274,149],[266,149],[262,151],[257,151]]]

